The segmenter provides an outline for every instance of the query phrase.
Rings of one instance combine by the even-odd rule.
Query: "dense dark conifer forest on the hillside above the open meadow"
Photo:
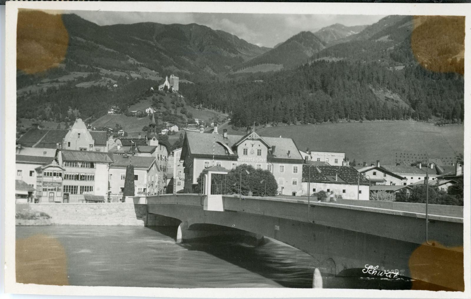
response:
[[[409,105],[380,103],[374,89],[397,93]],[[192,104],[232,111],[235,126],[321,123],[338,119],[463,119],[463,77],[422,66],[391,71],[380,63],[317,61],[295,70],[227,83],[182,84]]]

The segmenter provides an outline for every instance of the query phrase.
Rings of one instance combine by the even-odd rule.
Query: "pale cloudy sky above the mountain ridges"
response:
[[[206,25],[223,30],[258,46],[273,47],[301,31],[316,32],[322,27],[340,23],[346,26],[370,25],[381,16],[367,15],[302,15],[241,13],[121,12],[75,10],[78,16],[97,25],[155,22],[161,24]]]

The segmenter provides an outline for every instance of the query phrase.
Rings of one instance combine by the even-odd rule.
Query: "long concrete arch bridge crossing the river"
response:
[[[219,207],[210,210],[211,198],[208,202],[204,194],[134,201],[147,205],[147,225],[162,216],[179,219],[178,242],[214,236],[257,242],[267,236],[300,249],[318,261],[315,286],[321,286],[326,275],[369,265],[464,290],[463,207],[429,205],[426,240],[424,204],[352,199],[308,204],[300,199],[219,195]]]

